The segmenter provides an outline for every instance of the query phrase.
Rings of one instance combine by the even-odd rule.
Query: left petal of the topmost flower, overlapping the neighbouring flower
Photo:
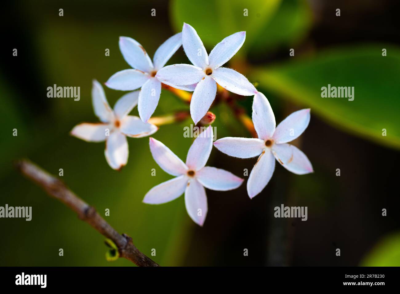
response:
[[[156,78],[164,84],[174,85],[197,84],[204,76],[201,68],[190,64],[172,64],[160,69]]]

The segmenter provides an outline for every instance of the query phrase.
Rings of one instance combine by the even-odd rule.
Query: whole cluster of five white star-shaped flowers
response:
[[[162,84],[193,92],[190,115],[197,124],[214,101],[218,83],[235,94],[254,96],[252,120],[258,138],[226,137],[214,142],[218,150],[230,156],[259,156],[247,182],[250,198],[259,194],[268,184],[275,168],[274,158],[295,174],[312,172],[312,165],[306,155],[295,146],[287,144],[307,128],[310,109],[290,114],[276,127],[274,113],[264,94],[258,92],[239,72],[222,67],[242,47],[245,38],[246,32],[232,34],[218,43],[208,55],[196,30],[185,23],[182,32],[170,37],[156,50],[152,61],[136,40],[120,37],[122,56],[132,68],[113,74],[105,84],[115,90],[136,91],[122,96],[112,110],[102,86],[94,81],[93,108],[101,122],[79,124],[71,134],[89,142],[105,140],[106,160],[111,168],[119,170],[128,161],[126,136],[140,138],[158,130],[148,120],[158,105]],[[181,45],[192,64],[165,66]],[[128,115],[136,105],[140,118]],[[186,163],[162,142],[150,137],[150,152],[154,160],[165,172],[176,178],[152,188],[143,202],[161,204],[184,193],[190,218],[202,226],[208,210],[204,188],[227,191],[238,188],[243,182],[243,179],[226,170],[206,166],[213,146],[213,136],[211,126],[208,126],[194,140]]]

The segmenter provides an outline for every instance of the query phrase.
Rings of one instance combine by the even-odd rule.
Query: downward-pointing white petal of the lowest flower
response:
[[[204,187],[196,180],[190,180],[185,191],[185,206],[192,220],[203,226],[207,216],[207,196]]]

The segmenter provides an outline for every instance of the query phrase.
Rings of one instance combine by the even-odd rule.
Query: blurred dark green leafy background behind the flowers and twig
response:
[[[60,8],[64,16],[58,15]],[[155,248],[151,257],[163,266],[399,266],[400,30],[392,23],[398,9],[394,1],[360,0],[8,2],[2,11],[0,206],[32,206],[32,221],[0,219],[0,266],[133,265],[124,259],[107,262],[104,237],[14,170],[12,161],[23,157],[52,174],[63,168],[61,179],[78,196],[100,214],[109,208],[106,220],[132,236],[146,255]],[[142,203],[150,188],[171,178],[152,159],[148,138],[128,138],[128,164],[117,172],[106,163],[103,143],[69,135],[76,124],[97,121],[92,79],[104,83],[129,68],[119,36],[134,38],[152,57],[183,22],[197,30],[207,52],[246,30],[246,42],[226,66],[246,74],[267,96],[277,123],[301,108],[312,114],[294,144],[308,156],[314,174],[297,176],[277,165],[253,200],[246,183],[228,192],[207,190],[203,228],[188,217],[183,197],[159,206]],[[14,48],[18,56],[12,56]],[[182,48],[168,62],[174,63],[188,63]],[[53,84],[80,86],[80,101],[47,98]],[[328,84],[354,86],[354,101],[321,98],[321,87]],[[124,94],[105,92],[110,105]],[[247,97],[238,106],[251,115],[251,103]],[[163,90],[154,115],[180,110],[188,105]],[[250,136],[226,104],[216,103],[211,111],[217,138]],[[154,138],[185,159],[192,140],[183,137],[183,128],[191,123],[162,126]],[[18,136],[12,136],[14,128]],[[254,163],[215,148],[208,161],[238,176]],[[308,206],[308,220],[274,218],[273,208],[282,203]]]

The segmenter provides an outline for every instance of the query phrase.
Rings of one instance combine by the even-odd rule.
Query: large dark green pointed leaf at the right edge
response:
[[[382,56],[382,48],[388,55]],[[292,57],[295,60],[295,57]],[[337,48],[251,75],[282,98],[310,107],[338,128],[400,148],[400,50],[382,45]],[[321,88],[354,87],[354,100],[322,98]],[[387,136],[382,136],[386,129]]]

